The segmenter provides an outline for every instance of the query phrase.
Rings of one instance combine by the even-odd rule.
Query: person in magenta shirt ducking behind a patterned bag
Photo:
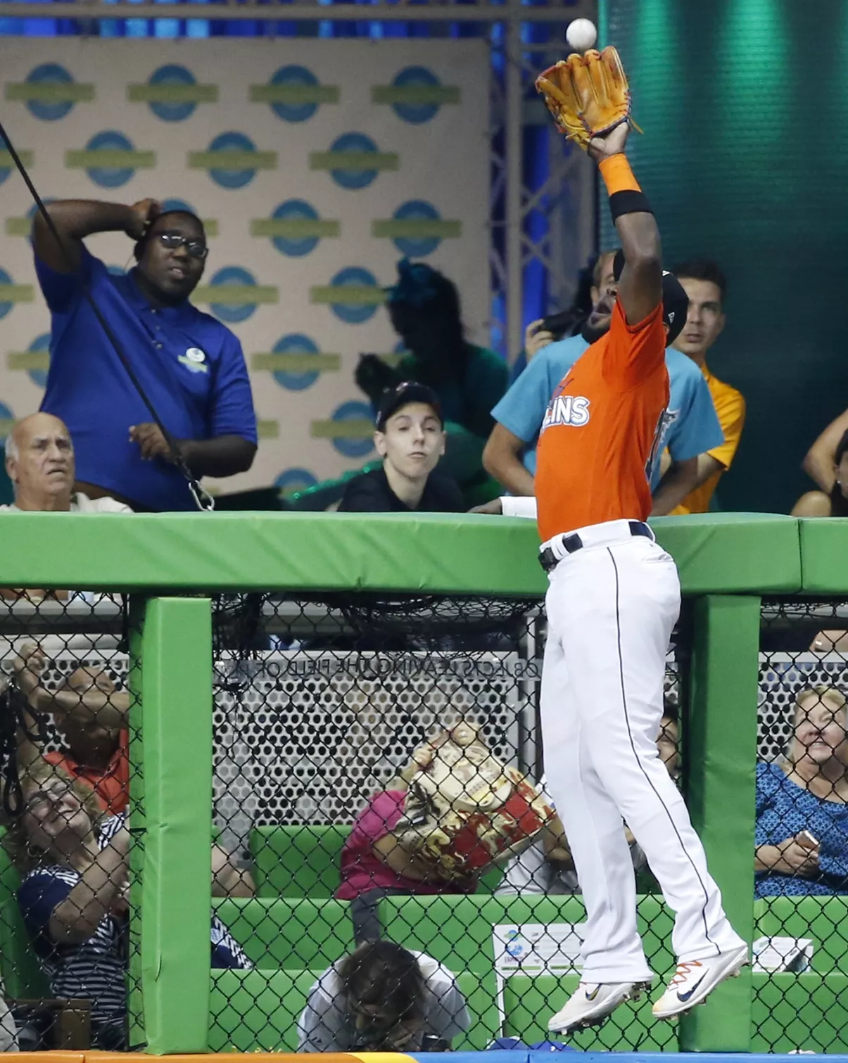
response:
[[[350,901],[358,944],[380,938],[378,906],[383,897],[473,893],[477,889],[476,876],[459,881],[436,878],[433,865],[408,851],[393,832],[403,814],[410,781],[432,759],[435,741],[416,749],[397,778],[370,798],[342,848],[342,884],[336,897]]]

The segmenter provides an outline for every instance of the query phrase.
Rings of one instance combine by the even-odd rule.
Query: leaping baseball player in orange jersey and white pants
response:
[[[680,583],[645,521],[668,403],[664,353],[686,320],[686,294],[663,272],[656,221],[625,155],[630,95],[615,49],[571,55],[537,86],[558,124],[598,163],[623,252],[617,293],[606,297],[609,328],[548,407],[535,480],[541,561],[550,580],[545,769],[586,905],[582,980],[548,1024],[567,1032],[602,1022],[653,978],[636,931],[622,819],[676,913],[678,967],[653,1014],[670,1018],[700,1003],[738,973],[748,949],[725,915],[655,744]],[[615,98],[623,100],[623,114],[612,129],[608,122],[593,132],[599,125],[591,122],[592,107]],[[528,503],[534,500],[503,499],[502,511],[528,516]]]

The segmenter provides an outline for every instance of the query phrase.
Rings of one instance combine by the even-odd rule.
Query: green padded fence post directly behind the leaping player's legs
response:
[[[725,911],[753,935],[760,598],[708,594],[695,603],[686,800]],[[683,1051],[744,1052],[751,1041],[750,967],[680,1023]]]

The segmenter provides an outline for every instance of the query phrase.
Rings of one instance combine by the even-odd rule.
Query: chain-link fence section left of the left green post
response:
[[[130,1043],[128,637],[117,595],[0,600],[0,975],[23,1049]]]

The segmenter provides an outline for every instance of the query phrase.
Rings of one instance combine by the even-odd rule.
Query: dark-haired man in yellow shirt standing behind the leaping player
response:
[[[705,513],[716,485],[730,468],[739,445],[745,424],[745,399],[735,388],[714,376],[706,365],[706,352],[725,327],[725,274],[716,263],[708,258],[691,258],[676,266],[671,272],[689,297],[686,323],[674,345],[700,367],[725,433],[725,442],[720,446],[698,455],[697,486],[671,510],[671,514]]]

